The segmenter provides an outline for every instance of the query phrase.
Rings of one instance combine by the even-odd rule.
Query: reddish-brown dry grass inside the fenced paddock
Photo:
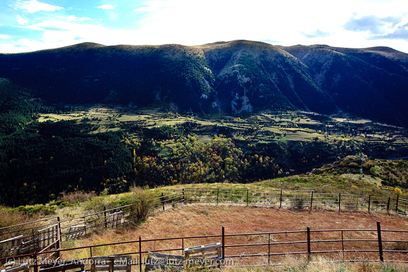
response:
[[[157,213],[149,217],[144,224],[140,226],[129,225],[124,228],[108,229],[103,232],[95,232],[89,236],[78,239],[71,244],[65,244],[64,248],[72,246],[88,246],[95,244],[105,244],[118,241],[138,240],[139,235],[143,240],[155,238],[169,238],[182,236],[200,236],[200,235],[220,235],[221,226],[225,227],[225,234],[238,233],[256,233],[256,232],[279,232],[305,230],[307,226],[311,230],[339,230],[339,229],[372,229],[370,232],[354,231],[344,232],[344,239],[376,239],[376,221],[381,222],[382,230],[404,230],[408,225],[408,219],[402,216],[386,214],[368,214],[366,212],[343,212],[338,214],[333,211],[313,210],[311,213],[306,210],[295,211],[289,209],[275,209],[264,207],[240,207],[240,206],[214,206],[214,205],[187,205],[175,208],[165,213]],[[382,239],[400,239],[408,240],[405,233],[387,233],[382,232]],[[277,242],[290,242],[296,240],[306,240],[306,234],[302,233],[283,233],[274,234],[270,237],[268,234],[248,235],[248,236],[230,236],[225,238],[226,245],[248,244],[248,243],[267,243],[268,238]],[[341,239],[341,232],[323,232],[311,233],[312,240],[323,239]],[[150,241],[142,243],[142,251],[179,249],[173,251],[173,254],[181,254],[181,248],[184,246],[200,245],[213,242],[221,242],[221,237],[213,238],[190,238]],[[273,242],[271,240],[271,242]],[[106,255],[138,252],[138,243],[129,243],[121,245],[101,246],[94,248],[92,255]],[[404,248],[405,244],[396,244],[390,242],[383,243],[385,260],[408,260],[408,256],[403,254],[387,253],[395,247]],[[271,245],[271,253],[285,252],[305,252],[306,244],[281,244]],[[376,242],[344,242],[346,250],[378,249]],[[312,243],[312,251],[322,250],[341,250],[341,242]],[[268,245],[260,246],[241,246],[225,248],[225,255],[248,255],[248,254],[267,254]],[[64,258],[82,258],[89,257],[90,252],[87,249],[75,252],[66,252]],[[304,265],[305,254],[293,255],[295,260],[299,260]],[[313,255],[319,257],[319,255]],[[326,259],[342,260],[340,253],[331,253],[322,255]],[[296,259],[297,258],[297,259]],[[344,259],[378,259],[378,253],[346,253]],[[271,263],[284,263],[287,260],[285,255],[271,256]],[[235,258],[236,263],[262,264],[268,263],[268,258],[261,257],[242,257]]]

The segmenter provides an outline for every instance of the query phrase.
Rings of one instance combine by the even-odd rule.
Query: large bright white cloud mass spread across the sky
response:
[[[35,0],[20,3],[39,3]],[[41,0],[46,1],[46,0]],[[47,4],[44,4],[47,5]],[[408,23],[408,14],[401,8],[406,0],[343,0],[342,5],[327,0],[153,0],[133,7],[136,13],[120,13],[113,5],[101,5],[99,9],[114,9],[108,17],[90,21],[89,17],[41,18],[38,22],[20,27],[41,31],[41,40],[21,40],[16,47],[27,51],[93,41],[106,45],[113,44],[205,44],[215,41],[247,39],[267,41],[275,45],[329,44],[342,47],[390,46],[407,52],[408,41],[396,40],[395,30]],[[54,6],[52,6],[54,7]],[[136,9],[135,9],[136,8]],[[78,8],[75,7],[75,10]],[[28,10],[28,9],[26,9]],[[116,12],[117,11],[117,12]],[[73,12],[71,14],[74,14]],[[401,17],[401,21],[386,21],[388,34],[394,39],[367,40],[367,32],[344,29],[351,17],[355,19]],[[126,21],[132,17],[132,20]],[[110,28],[108,23],[115,23]],[[388,20],[388,19],[387,19]],[[96,24],[97,23],[97,24]],[[390,24],[390,25],[389,25]],[[388,29],[389,28],[389,29]],[[400,31],[402,32],[402,31]],[[38,33],[37,33],[38,34]],[[330,34],[330,35],[329,35]],[[384,32],[384,34],[387,34]],[[384,35],[381,34],[381,35]],[[372,35],[372,34],[371,34]],[[42,47],[38,47],[38,46]],[[25,46],[25,47],[23,47]],[[0,51],[4,48],[0,47]],[[9,47],[7,47],[9,48]]]

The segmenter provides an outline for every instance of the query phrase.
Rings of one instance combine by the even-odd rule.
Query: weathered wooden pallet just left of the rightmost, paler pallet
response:
[[[183,255],[171,255],[156,252],[147,253],[145,271],[162,270],[181,270],[184,268],[185,257]]]

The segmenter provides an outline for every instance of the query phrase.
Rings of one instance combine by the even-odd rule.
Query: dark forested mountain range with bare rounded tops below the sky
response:
[[[0,54],[0,77],[49,103],[174,103],[205,114],[299,109],[408,125],[408,54],[389,47],[81,43]]]

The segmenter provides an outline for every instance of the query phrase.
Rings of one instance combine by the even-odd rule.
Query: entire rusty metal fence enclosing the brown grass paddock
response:
[[[266,207],[278,208],[294,208],[294,209],[313,209],[329,208],[341,211],[368,211],[368,212],[391,212],[398,214],[407,214],[406,207],[408,200],[400,197],[378,197],[350,194],[333,194],[333,193],[314,193],[310,190],[272,190],[272,189],[226,189],[226,188],[181,188],[171,191],[165,191],[156,199],[158,205],[154,207],[153,213],[166,211],[173,207],[191,203],[209,203],[215,205],[233,204],[233,205],[257,205]],[[191,239],[202,240],[203,243],[218,242],[211,240],[212,238],[222,238],[222,249],[224,258],[238,258],[239,263],[246,264],[248,258],[251,261],[265,262],[271,264],[276,262],[277,256],[285,256],[287,254],[307,255],[309,258],[312,254],[341,254],[343,260],[351,260],[347,256],[355,256],[355,253],[365,253],[365,258],[372,260],[382,260],[385,251],[382,251],[381,246],[385,244],[386,255],[389,257],[399,256],[400,260],[407,261],[405,256],[408,253],[408,241],[404,235],[408,231],[405,230],[382,230],[382,233],[392,233],[395,237],[383,239],[381,241],[381,231],[377,230],[307,230],[288,231],[288,232],[269,232],[269,233],[253,233],[253,234],[228,234],[212,235],[212,236],[194,236],[194,237],[175,237],[166,239],[149,239],[109,243],[104,245],[92,245],[82,248],[61,250],[61,243],[67,239],[76,238],[78,236],[89,233],[95,229],[103,229],[116,227],[126,222],[135,220],[135,213],[132,207],[136,204],[126,205],[119,208],[104,209],[104,211],[87,214],[66,220],[60,220],[59,217],[51,217],[38,221],[28,222],[16,226],[1,228],[1,237],[7,237],[0,241],[0,262],[7,258],[32,258],[37,260],[43,254],[57,254],[59,256],[63,252],[77,251],[80,249],[88,249],[89,254],[80,256],[81,258],[90,258],[95,256],[92,253],[100,246],[113,246],[118,244],[138,243],[140,250],[137,252],[124,252],[124,254],[137,255],[135,260],[142,260],[142,254],[148,251],[152,252],[180,252],[183,251],[185,242]],[[35,226],[34,226],[35,225]],[[38,226],[37,226],[38,225]],[[379,224],[378,224],[379,228]],[[55,230],[57,229],[57,232]],[[362,233],[376,232],[378,237],[363,237]],[[337,233],[340,237],[325,238],[322,234]],[[344,235],[349,235],[348,237]],[[321,236],[319,239],[311,238],[312,235]],[[398,235],[395,235],[398,234]],[[276,237],[284,235],[285,238],[276,239]],[[305,236],[303,239],[300,236]],[[360,237],[360,236],[361,237]],[[402,236],[401,236],[402,235]],[[258,240],[261,243],[225,243],[224,239],[232,239],[234,237],[246,236],[261,237]],[[288,236],[293,236],[288,238]],[[12,237],[12,238],[10,238]],[[252,239],[251,238],[251,239]],[[285,240],[286,239],[286,240]],[[289,240],[288,240],[289,239]],[[180,246],[173,248],[160,248],[161,243],[179,240]],[[233,242],[231,240],[231,242]],[[152,249],[142,251],[142,244],[154,243]],[[377,248],[372,246],[361,248],[362,244],[377,244]],[[285,250],[287,245],[290,245],[293,250]],[[313,245],[313,246],[312,246]],[[323,246],[324,245],[324,246]],[[338,246],[341,245],[341,248]],[[331,247],[330,247],[331,246]],[[337,246],[337,247],[336,247]],[[351,248],[347,248],[351,246]],[[55,248],[56,250],[50,251]],[[158,249],[158,247],[160,249]],[[262,248],[261,251],[253,251],[253,248]],[[227,254],[225,255],[225,249]],[[237,249],[246,249],[243,252]],[[279,250],[278,250],[279,249]],[[375,253],[375,254],[374,254]],[[92,255],[93,254],[93,255]],[[404,255],[405,254],[405,255]],[[135,256],[136,256],[135,255]],[[378,257],[379,256],[379,257]],[[378,257],[378,258],[377,258]],[[58,257],[57,257],[58,258]],[[138,259],[139,258],[139,259]],[[41,258],[40,258],[41,259]],[[407,260],[405,260],[407,259]],[[396,261],[389,258],[389,261]],[[143,264],[140,262],[140,265]],[[252,265],[252,264],[249,264]],[[34,267],[34,266],[33,266]],[[35,266],[37,269],[37,266]]]

